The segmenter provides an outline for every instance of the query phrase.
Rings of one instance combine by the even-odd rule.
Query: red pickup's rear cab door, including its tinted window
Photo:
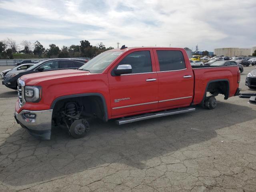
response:
[[[188,106],[193,99],[194,75],[180,50],[154,49],[158,75],[158,107]]]

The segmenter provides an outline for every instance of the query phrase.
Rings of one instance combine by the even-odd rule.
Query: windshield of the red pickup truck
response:
[[[123,51],[118,52],[103,52],[99,54],[98,56],[92,58],[90,61],[88,61],[86,64],[84,64],[82,67],[79,68],[79,70],[85,70],[90,71],[91,73],[102,73],[104,69],[120,54],[122,54]]]

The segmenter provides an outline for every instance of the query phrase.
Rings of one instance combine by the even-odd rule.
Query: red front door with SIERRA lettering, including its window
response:
[[[158,79],[152,49],[126,52],[108,71],[112,116],[122,116],[158,107]],[[132,73],[117,76],[114,70],[123,64]]]

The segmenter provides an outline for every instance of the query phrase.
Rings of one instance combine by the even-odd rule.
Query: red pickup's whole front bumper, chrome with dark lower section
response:
[[[14,113],[18,124],[38,139],[50,139],[52,129],[52,109],[41,111],[22,110]]]

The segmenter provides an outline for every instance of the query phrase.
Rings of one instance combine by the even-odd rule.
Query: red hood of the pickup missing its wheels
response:
[[[22,76],[20,79],[25,81],[25,84],[35,85],[38,82],[46,80],[54,80],[59,78],[71,77],[71,76],[80,76],[91,74],[88,71],[66,69],[66,70],[55,70],[49,72],[37,72],[32,74],[27,74]]]

